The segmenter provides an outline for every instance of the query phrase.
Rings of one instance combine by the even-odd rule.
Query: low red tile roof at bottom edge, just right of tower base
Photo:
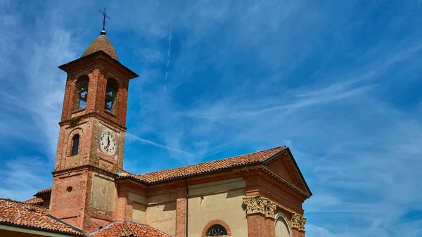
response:
[[[113,222],[103,229],[89,233],[90,237],[169,237],[166,233],[159,231],[146,224],[134,222]]]

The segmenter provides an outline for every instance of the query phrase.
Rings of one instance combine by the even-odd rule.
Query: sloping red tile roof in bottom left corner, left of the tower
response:
[[[49,215],[45,207],[4,198],[0,198],[0,224],[82,236],[77,228]]]

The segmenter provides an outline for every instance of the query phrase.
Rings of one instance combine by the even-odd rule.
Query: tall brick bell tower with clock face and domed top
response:
[[[114,179],[123,167],[129,80],[103,29],[68,73],[50,212],[84,233],[115,220]]]

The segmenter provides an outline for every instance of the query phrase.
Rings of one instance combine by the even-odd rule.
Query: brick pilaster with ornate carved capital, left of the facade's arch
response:
[[[276,205],[261,195],[243,198],[248,219],[248,236],[274,237],[274,210]]]

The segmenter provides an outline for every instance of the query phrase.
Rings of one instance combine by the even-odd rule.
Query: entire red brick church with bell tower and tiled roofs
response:
[[[286,146],[131,174],[127,98],[138,77],[103,29],[67,72],[53,184],[0,198],[0,236],[304,237],[312,196]],[[146,159],[146,158],[144,158]]]

